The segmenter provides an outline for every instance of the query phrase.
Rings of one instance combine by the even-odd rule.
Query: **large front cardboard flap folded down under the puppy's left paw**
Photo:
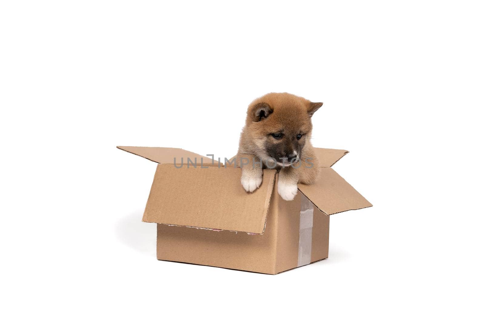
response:
[[[241,185],[241,169],[158,165],[144,222],[262,234],[275,183],[274,169],[263,170],[254,193]]]

